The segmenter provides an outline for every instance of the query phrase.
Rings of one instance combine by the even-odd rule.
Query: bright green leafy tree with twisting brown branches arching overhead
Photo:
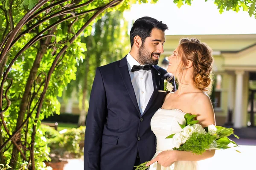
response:
[[[255,15],[255,0],[232,2],[217,4],[227,10],[242,6]],[[136,0],[0,0],[1,163],[14,170],[44,167],[49,148],[41,120],[59,113],[57,96],[76,79],[76,63],[85,57],[80,48],[86,49],[78,37],[90,35],[105,12],[122,12],[131,3]]]

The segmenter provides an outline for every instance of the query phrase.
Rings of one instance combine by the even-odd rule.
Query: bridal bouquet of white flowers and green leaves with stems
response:
[[[239,139],[239,137],[234,134],[233,128],[215,125],[202,127],[197,124],[198,120],[195,120],[196,115],[191,115],[189,113],[187,113],[184,118],[186,123],[184,125],[179,123],[182,131],[166,137],[166,139],[173,139],[172,142],[175,146],[173,150],[202,154],[206,150],[238,147],[236,142],[228,138],[228,136],[234,135]],[[239,152],[239,150],[236,151]],[[136,170],[146,170],[148,168],[145,166],[146,164],[147,162],[135,166],[137,167]]]

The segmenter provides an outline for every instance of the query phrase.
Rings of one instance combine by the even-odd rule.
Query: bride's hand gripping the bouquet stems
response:
[[[169,167],[176,161],[176,156],[174,150],[167,150],[159,153],[157,157],[149,161],[146,166],[153,164],[154,162],[158,162],[158,164],[163,167]]]

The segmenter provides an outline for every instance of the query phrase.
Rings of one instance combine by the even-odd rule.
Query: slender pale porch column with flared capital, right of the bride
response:
[[[235,115],[234,127],[241,128],[243,125],[243,74],[244,71],[236,71],[236,98],[235,98]]]

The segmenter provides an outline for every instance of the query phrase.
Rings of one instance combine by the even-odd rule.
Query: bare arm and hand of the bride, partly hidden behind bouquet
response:
[[[191,113],[196,113],[197,120],[203,127],[207,127],[208,125],[212,124],[215,125],[215,115],[212,108],[212,103],[207,94],[200,93],[195,96],[191,102],[193,103]],[[215,150],[207,150],[202,155],[179,150],[163,151],[159,153],[156,158],[148,162],[147,166],[153,164],[155,161],[158,161],[158,163],[162,166],[168,167],[175,161],[200,161],[210,158],[214,156],[214,154]]]

